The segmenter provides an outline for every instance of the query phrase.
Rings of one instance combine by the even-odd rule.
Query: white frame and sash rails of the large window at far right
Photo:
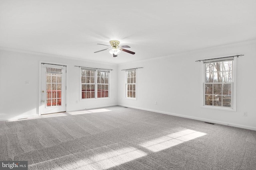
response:
[[[208,109],[218,109],[218,110],[225,110],[225,111],[236,111],[236,71],[237,71],[237,57],[231,57],[230,59],[233,59],[232,63],[232,82],[228,83],[207,83],[206,82],[206,63],[209,62],[201,62],[201,72],[202,72],[202,83],[201,83],[201,90],[202,90],[202,102],[201,102],[201,107],[202,108],[208,108]],[[225,61],[226,59],[213,59],[212,62],[222,62]],[[211,61],[210,61],[211,62]],[[231,95],[231,107],[225,107],[225,106],[210,106],[210,105],[205,105],[205,84],[232,84],[231,85],[231,90],[232,90],[232,95]]]

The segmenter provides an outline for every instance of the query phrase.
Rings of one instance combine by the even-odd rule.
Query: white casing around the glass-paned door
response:
[[[47,64],[58,64],[58,65],[65,65],[66,66],[66,73],[67,73],[67,67],[68,64],[64,64],[64,63],[54,63],[54,62],[47,62],[47,61],[39,61],[39,98],[38,98],[38,115],[41,116],[42,115],[42,108],[41,108],[41,99],[42,99],[42,92],[41,92],[41,88],[42,88],[42,63],[47,63]],[[65,89],[65,93],[66,93],[66,110],[67,110],[67,74],[66,74],[66,89]]]

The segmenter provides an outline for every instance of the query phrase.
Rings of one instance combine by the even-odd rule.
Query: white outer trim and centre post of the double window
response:
[[[82,69],[82,68],[81,68]],[[94,92],[94,96],[95,98],[84,98],[82,99],[82,72],[80,69],[80,74],[79,74],[79,79],[80,79],[80,83],[79,83],[79,100],[104,100],[104,99],[110,99],[110,72],[108,74],[108,97],[104,97],[104,98],[98,98],[98,83],[95,83],[95,92]],[[94,69],[86,69],[86,70],[94,70]],[[94,70],[94,80],[95,82],[97,82],[97,71],[102,71],[102,70]]]

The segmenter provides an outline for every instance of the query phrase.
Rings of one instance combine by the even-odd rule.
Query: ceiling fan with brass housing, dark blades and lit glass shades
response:
[[[99,45],[105,45],[105,46],[108,46],[109,48],[107,49],[103,49],[103,50],[100,50],[100,51],[105,51],[105,50],[109,50],[109,53],[113,55],[113,57],[117,57],[118,54],[121,53],[121,51],[125,51],[126,53],[130,53],[130,54],[135,54],[134,52],[132,51],[129,51],[129,50],[126,50],[126,49],[123,49],[123,48],[130,48],[130,46],[128,45],[119,45],[119,41],[116,41],[116,40],[112,40],[112,41],[109,41],[110,45],[105,45],[105,44],[99,44]],[[100,51],[95,51],[94,53],[98,53]]]

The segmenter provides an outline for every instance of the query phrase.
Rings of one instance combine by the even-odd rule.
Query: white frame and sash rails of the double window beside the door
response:
[[[82,70],[90,70],[94,71],[94,98],[82,98],[82,84],[88,84],[88,83],[82,83]],[[108,72],[108,97],[98,97],[98,71],[99,72]],[[89,83],[92,84],[92,83]],[[106,84],[104,84],[106,85]],[[110,71],[108,70],[98,70],[98,69],[90,69],[90,68],[82,68],[80,69],[80,100],[102,100],[102,99],[110,99]]]

